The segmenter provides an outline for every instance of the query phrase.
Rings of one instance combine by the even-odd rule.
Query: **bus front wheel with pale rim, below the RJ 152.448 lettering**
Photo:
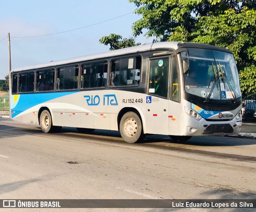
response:
[[[144,138],[140,117],[134,112],[127,112],[120,121],[120,134],[124,141],[135,143]]]

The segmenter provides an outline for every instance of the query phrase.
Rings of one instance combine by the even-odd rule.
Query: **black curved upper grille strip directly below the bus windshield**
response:
[[[204,110],[212,110],[212,111],[230,111],[235,110],[239,106],[241,106],[242,102],[238,102],[232,105],[212,105],[212,104],[205,104],[203,102],[198,102],[196,100],[191,101],[193,104],[203,108]]]

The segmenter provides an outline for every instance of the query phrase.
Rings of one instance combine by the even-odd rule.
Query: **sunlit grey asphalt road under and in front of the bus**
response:
[[[0,199],[256,199],[255,139],[151,135],[128,144],[119,132],[44,134],[0,118],[0,166]],[[138,211],[74,211],[86,210]]]

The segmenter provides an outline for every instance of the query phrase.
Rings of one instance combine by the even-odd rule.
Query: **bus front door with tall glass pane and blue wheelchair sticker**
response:
[[[150,60],[148,93],[146,95],[146,133],[167,134],[169,128],[167,99],[170,58]]]

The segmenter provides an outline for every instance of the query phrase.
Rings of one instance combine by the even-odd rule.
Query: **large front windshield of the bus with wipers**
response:
[[[180,52],[185,91],[206,100],[230,100],[241,96],[236,63],[232,54],[188,48]]]

